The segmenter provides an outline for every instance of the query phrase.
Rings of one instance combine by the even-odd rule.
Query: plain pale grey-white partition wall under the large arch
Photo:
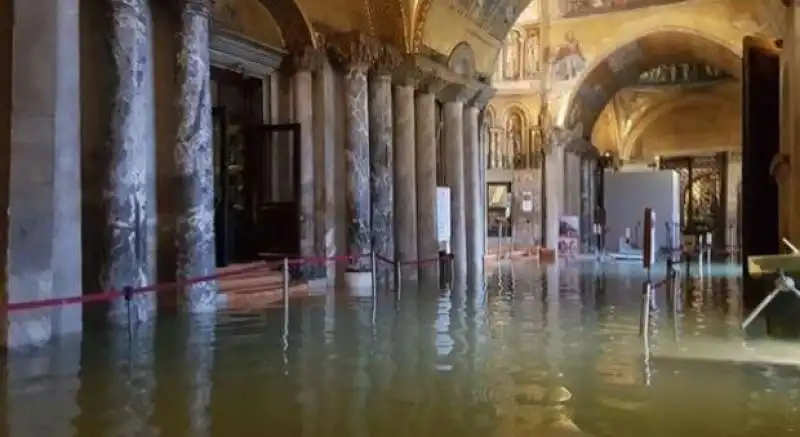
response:
[[[619,239],[625,236],[626,228],[630,228],[634,241],[642,241],[645,208],[653,208],[656,213],[656,248],[669,246],[665,223],[680,220],[679,192],[680,180],[673,170],[606,171],[608,250],[619,250]],[[680,241],[680,230],[676,231],[677,234],[673,231],[672,247]]]

